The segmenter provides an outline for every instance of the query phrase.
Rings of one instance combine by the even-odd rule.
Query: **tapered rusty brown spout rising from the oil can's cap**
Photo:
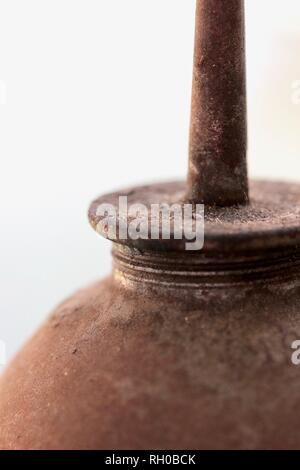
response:
[[[188,199],[247,204],[244,0],[197,0]]]

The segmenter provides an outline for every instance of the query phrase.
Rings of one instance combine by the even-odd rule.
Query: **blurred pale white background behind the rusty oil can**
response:
[[[194,11],[195,0],[0,0],[8,359],[56,304],[109,273],[89,202],[185,177]],[[246,12],[250,174],[300,181],[300,2],[246,0]]]

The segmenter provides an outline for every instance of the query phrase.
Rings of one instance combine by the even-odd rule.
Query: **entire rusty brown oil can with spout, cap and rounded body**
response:
[[[197,4],[189,182],[99,198],[89,220],[119,195],[205,201],[204,249],[113,240],[113,275],[1,378],[2,449],[300,448],[300,185],[251,182],[248,201],[243,2]]]

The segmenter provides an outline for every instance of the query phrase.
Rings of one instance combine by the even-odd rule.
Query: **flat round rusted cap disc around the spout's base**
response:
[[[109,239],[109,233],[101,226],[99,205],[111,204],[115,207],[116,225],[126,218],[119,212],[119,195],[128,194],[128,206],[143,203],[150,214],[151,204],[167,203],[170,207],[182,201],[186,194],[185,182],[159,183],[124,190],[97,198],[90,206],[89,220],[92,227]],[[243,206],[206,206],[204,253],[238,253],[243,250],[271,250],[300,245],[300,186],[299,184],[267,181],[250,182],[251,203]],[[176,240],[151,239],[151,221],[147,220],[147,239],[126,240],[117,237],[117,243],[126,244],[141,250],[185,251],[184,238]],[[118,235],[118,231],[117,231]]]

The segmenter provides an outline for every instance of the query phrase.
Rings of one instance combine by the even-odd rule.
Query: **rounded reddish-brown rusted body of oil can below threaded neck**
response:
[[[299,449],[285,274],[190,288],[136,269],[78,292],[2,377],[0,448]]]

